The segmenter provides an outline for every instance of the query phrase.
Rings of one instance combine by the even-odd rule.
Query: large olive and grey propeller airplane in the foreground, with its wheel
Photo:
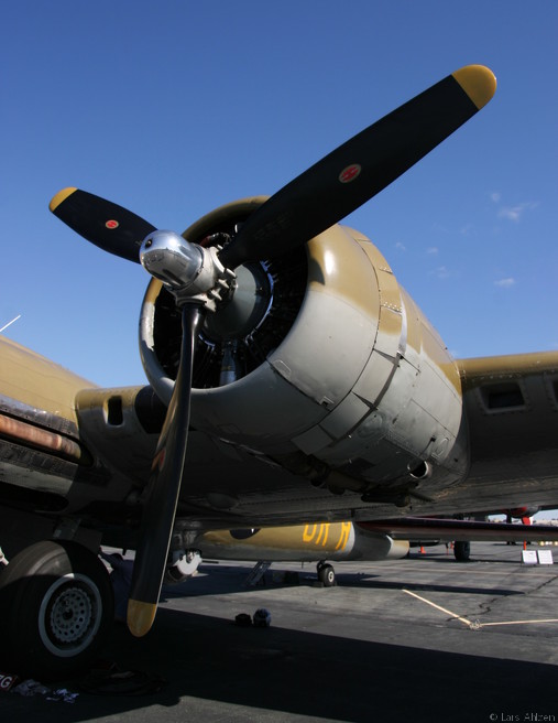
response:
[[[141,636],[169,551],[206,530],[557,505],[558,354],[453,360],[382,253],[338,225],[494,90],[491,71],[461,68],[184,236],[55,195],[59,219],[154,277],[150,385],[91,388],[0,342],[0,622],[20,665],[64,675],[102,644],[101,543],[136,550]]]

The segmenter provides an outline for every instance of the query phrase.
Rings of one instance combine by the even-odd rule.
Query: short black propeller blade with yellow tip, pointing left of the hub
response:
[[[141,242],[155,230],[131,211],[79,188],[63,188],[48,207],[95,246],[136,263]]]

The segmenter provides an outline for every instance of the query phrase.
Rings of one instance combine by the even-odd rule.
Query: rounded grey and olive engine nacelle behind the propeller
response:
[[[262,201],[223,206],[184,235],[226,241]],[[140,341],[150,382],[167,403],[179,314],[155,280]],[[317,485],[384,501],[384,493],[428,495],[462,478],[461,402],[452,358],[384,257],[336,225],[288,258],[237,269],[233,301],[200,331],[190,419]]]

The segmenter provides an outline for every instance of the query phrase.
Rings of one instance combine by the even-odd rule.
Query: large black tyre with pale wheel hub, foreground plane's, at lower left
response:
[[[92,661],[113,624],[114,604],[107,569],[94,552],[44,541],[2,571],[0,609],[9,662],[20,675],[48,679]]]

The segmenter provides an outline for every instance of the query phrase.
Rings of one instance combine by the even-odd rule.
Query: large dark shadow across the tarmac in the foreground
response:
[[[163,676],[166,684],[160,692],[131,698],[80,693],[74,704],[0,693],[0,710],[7,721],[42,723],[298,716],[471,723],[557,713],[555,666],[337,637],[335,630],[333,618],[331,635],[321,635],[273,623],[242,628],[219,617],[162,608],[145,638],[116,626],[105,650],[123,670]],[[72,691],[79,690],[78,683],[61,682]]]

